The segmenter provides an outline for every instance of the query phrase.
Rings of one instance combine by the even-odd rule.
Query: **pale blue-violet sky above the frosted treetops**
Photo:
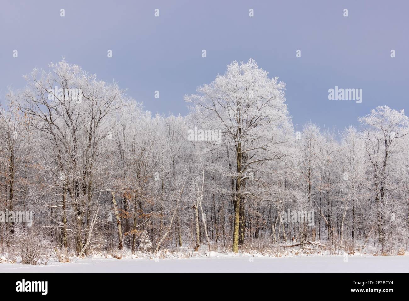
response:
[[[376,106],[409,114],[408,11],[404,0],[2,0],[0,99],[26,85],[23,74],[65,57],[116,81],[146,110],[185,115],[185,94],[253,58],[286,83],[297,128],[342,130]],[[329,100],[335,86],[362,89],[362,103]]]

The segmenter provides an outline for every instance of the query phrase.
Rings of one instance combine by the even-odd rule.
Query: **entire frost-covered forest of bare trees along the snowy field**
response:
[[[65,60],[24,77],[1,99],[2,258],[408,249],[403,110],[297,128],[285,83],[252,59],[180,99],[185,116]]]

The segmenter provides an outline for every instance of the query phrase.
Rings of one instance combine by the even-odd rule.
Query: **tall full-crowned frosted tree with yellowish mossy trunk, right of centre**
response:
[[[226,148],[234,204],[233,252],[244,241],[244,208],[248,198],[269,198],[246,189],[257,179],[265,162],[280,160],[288,153],[283,145],[290,141],[293,128],[284,97],[285,84],[250,59],[232,62],[224,75],[197,89],[198,94],[185,97],[198,125],[205,130],[222,132],[220,144]],[[240,218],[241,217],[241,218]]]

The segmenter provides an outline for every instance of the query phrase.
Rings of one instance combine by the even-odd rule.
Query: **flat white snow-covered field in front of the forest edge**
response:
[[[0,264],[0,272],[409,272],[409,256],[294,256],[188,259],[79,259],[48,265]]]

